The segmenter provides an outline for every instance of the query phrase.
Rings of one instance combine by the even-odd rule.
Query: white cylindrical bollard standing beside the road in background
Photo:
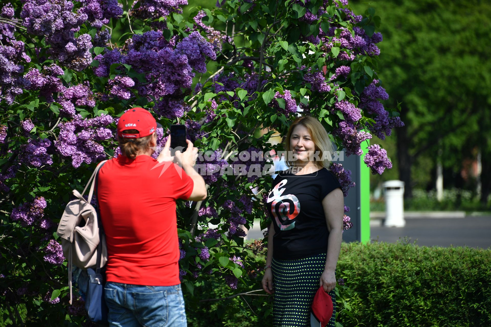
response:
[[[383,226],[404,227],[404,182],[388,180],[382,184],[385,194],[385,222]]]

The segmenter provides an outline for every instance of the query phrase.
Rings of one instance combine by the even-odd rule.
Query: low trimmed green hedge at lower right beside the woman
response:
[[[349,243],[337,271],[353,291],[345,327],[491,326],[491,250]]]

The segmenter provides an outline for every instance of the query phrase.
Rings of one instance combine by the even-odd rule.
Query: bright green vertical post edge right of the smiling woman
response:
[[[370,143],[367,142],[367,147]],[[368,149],[360,156],[360,242],[370,241],[370,168],[363,162]]]

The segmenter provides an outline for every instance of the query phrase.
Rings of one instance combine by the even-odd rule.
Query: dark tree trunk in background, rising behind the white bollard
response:
[[[396,135],[399,179],[405,183],[404,198],[409,199],[412,198],[411,166],[413,158],[409,154],[408,127],[396,128]]]

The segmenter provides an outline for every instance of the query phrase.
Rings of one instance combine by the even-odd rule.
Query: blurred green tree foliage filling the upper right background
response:
[[[366,4],[352,3],[355,12]],[[411,197],[415,171],[441,160],[452,178],[465,158],[482,153],[481,201],[490,194],[491,5],[486,1],[377,1],[384,24],[380,77],[391,99],[402,102],[398,128],[399,178]],[[437,150],[441,150],[441,155]],[[430,158],[431,160],[427,160]],[[430,171],[431,172],[431,171]],[[453,184],[463,186],[462,184]]]

